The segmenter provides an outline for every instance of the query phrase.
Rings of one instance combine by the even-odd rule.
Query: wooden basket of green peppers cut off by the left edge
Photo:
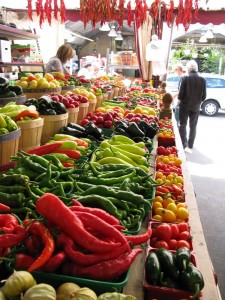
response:
[[[21,129],[0,135],[0,165],[10,161],[10,157],[16,155],[19,147]]]

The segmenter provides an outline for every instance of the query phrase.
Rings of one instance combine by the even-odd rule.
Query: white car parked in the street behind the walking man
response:
[[[225,77],[205,73],[201,76],[205,78],[207,87],[207,95],[201,105],[201,112],[205,116],[214,117],[219,109],[225,110]],[[168,76],[166,90],[172,94],[177,93],[179,80],[180,77],[177,75]]]

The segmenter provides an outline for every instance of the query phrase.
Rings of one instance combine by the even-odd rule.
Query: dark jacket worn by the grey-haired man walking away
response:
[[[197,112],[206,98],[206,81],[197,72],[183,76],[180,83],[178,99],[180,106],[188,111]]]

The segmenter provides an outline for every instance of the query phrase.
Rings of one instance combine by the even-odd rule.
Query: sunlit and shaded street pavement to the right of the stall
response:
[[[201,223],[225,299],[225,112],[215,117],[200,115],[197,136],[187,165],[196,193]]]

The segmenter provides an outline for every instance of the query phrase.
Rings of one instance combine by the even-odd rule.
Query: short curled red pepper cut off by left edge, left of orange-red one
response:
[[[0,235],[0,248],[13,247],[20,244],[27,236],[25,228],[17,225],[12,233]]]

